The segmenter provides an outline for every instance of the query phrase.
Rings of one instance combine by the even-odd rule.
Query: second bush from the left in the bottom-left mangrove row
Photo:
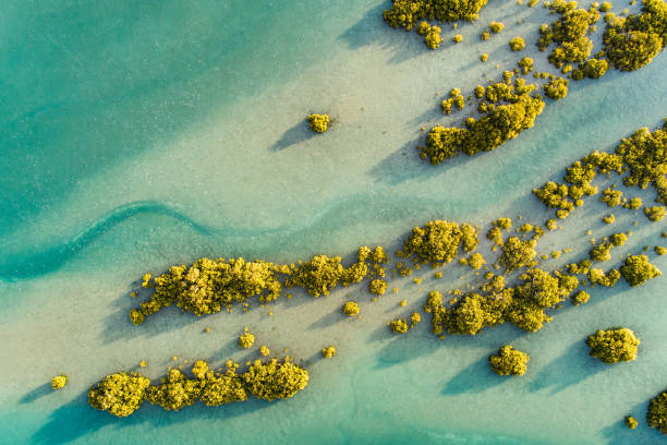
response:
[[[146,400],[166,410],[179,411],[199,399],[203,382],[190,378],[178,369],[171,369],[159,385],[146,388]]]

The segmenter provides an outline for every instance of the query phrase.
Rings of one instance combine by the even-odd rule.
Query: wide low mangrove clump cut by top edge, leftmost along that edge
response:
[[[422,19],[438,22],[475,21],[487,0],[392,0],[383,16],[390,26],[408,31]]]

